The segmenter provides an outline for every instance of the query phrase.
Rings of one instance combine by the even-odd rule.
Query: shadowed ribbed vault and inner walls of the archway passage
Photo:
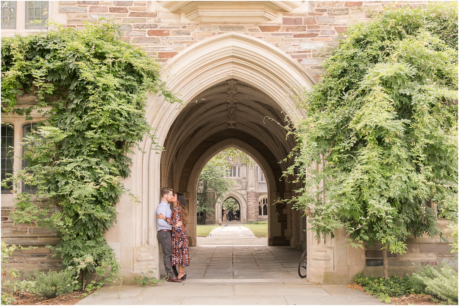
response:
[[[291,212],[278,201],[295,187],[281,179],[287,165],[280,161],[294,146],[293,139],[285,137],[288,118],[283,109],[260,89],[235,78],[203,90],[192,100],[174,120],[164,143],[165,185],[186,191],[188,202],[196,203],[197,178],[207,161],[225,147],[238,148],[252,156],[266,176],[268,202],[273,203],[266,212],[268,244],[290,245]],[[258,201],[257,178],[252,175],[245,184],[247,197]],[[190,216],[196,216],[195,206],[189,206]],[[246,218],[257,219],[258,211],[252,214]],[[189,230],[191,245],[196,245],[193,234]]]

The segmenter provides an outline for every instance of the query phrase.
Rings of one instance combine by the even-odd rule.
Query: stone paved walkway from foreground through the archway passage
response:
[[[385,305],[346,285],[301,279],[301,251],[267,246],[266,238],[251,238],[247,230],[229,225],[198,238],[183,283],[107,286],[77,305]]]

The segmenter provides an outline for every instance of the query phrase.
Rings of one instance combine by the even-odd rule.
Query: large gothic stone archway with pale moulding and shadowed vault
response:
[[[160,187],[185,190],[189,202],[195,202],[195,182],[202,169],[199,167],[212,157],[214,146],[222,146],[215,150],[219,152],[224,146],[222,142],[235,141],[247,150],[253,148],[250,155],[259,156],[257,163],[268,180],[271,175],[270,203],[277,197],[290,197],[297,187],[279,180],[287,165],[278,162],[290,152],[293,140],[285,139],[285,131],[277,123],[283,124],[285,116],[295,121],[305,115],[296,107],[293,97],[298,94],[297,87],[310,88],[313,79],[297,62],[257,38],[224,33],[185,48],[165,68],[168,74],[163,79],[173,92],[182,95],[184,105],[168,104],[157,96],[148,98],[148,120],[158,128],[158,142],[165,150],[157,154],[150,150],[151,143],[141,144],[146,153],[133,157],[133,175],[125,182],[140,196],[141,204],[132,209],[129,197],[123,197],[118,224],[107,233],[107,240],[120,254],[123,271],[131,273],[159,266],[155,209]],[[231,79],[235,80],[239,101],[235,117],[231,116],[234,114],[228,102],[231,88],[227,87]],[[184,145],[179,152],[176,144]],[[193,215],[196,212],[190,211],[190,216]],[[271,206],[270,243],[303,245],[300,240],[303,235],[298,233],[301,227],[297,226],[300,220],[301,213],[288,206],[280,203]],[[193,220],[190,221],[192,224]],[[190,230],[189,235],[190,242],[195,243],[196,232]],[[326,239],[314,240],[311,233],[304,236],[308,236],[311,258],[308,279],[321,282],[336,273],[349,278],[349,265],[353,264],[347,262],[349,251],[335,246],[341,240],[335,239],[331,245]]]

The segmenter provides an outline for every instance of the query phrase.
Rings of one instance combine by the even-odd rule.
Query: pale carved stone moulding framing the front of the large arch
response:
[[[164,144],[180,110],[198,93],[218,82],[236,78],[258,88],[293,121],[298,116],[304,116],[293,98],[300,93],[297,88],[308,89],[314,84],[304,68],[282,50],[261,39],[234,32],[219,34],[189,46],[169,60],[164,68],[162,80],[167,82],[173,93],[180,95],[184,104],[173,105],[153,94],[147,98],[147,120],[158,129],[156,137],[159,145]],[[162,167],[161,154],[152,150],[151,141],[145,139],[140,148],[146,153],[138,150],[133,156],[132,176],[126,180],[126,186],[131,186],[133,193],[139,195],[141,203],[130,217],[134,225],[129,235],[133,239],[129,246],[126,242],[126,247],[133,250],[130,257],[133,271],[141,271],[147,265],[159,266],[155,210],[161,184],[168,177],[168,167]],[[266,166],[264,168],[268,170]],[[274,192],[272,188],[268,190]],[[129,199],[125,197],[122,201],[128,203]]]

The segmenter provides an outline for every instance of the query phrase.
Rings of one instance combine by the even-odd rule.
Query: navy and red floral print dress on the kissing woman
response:
[[[178,206],[172,211],[172,218],[166,217],[166,222],[171,225],[177,224],[182,218],[182,212]],[[188,245],[188,233],[185,226],[176,226],[172,228],[172,256],[171,264],[173,266],[190,265],[190,247]]]

